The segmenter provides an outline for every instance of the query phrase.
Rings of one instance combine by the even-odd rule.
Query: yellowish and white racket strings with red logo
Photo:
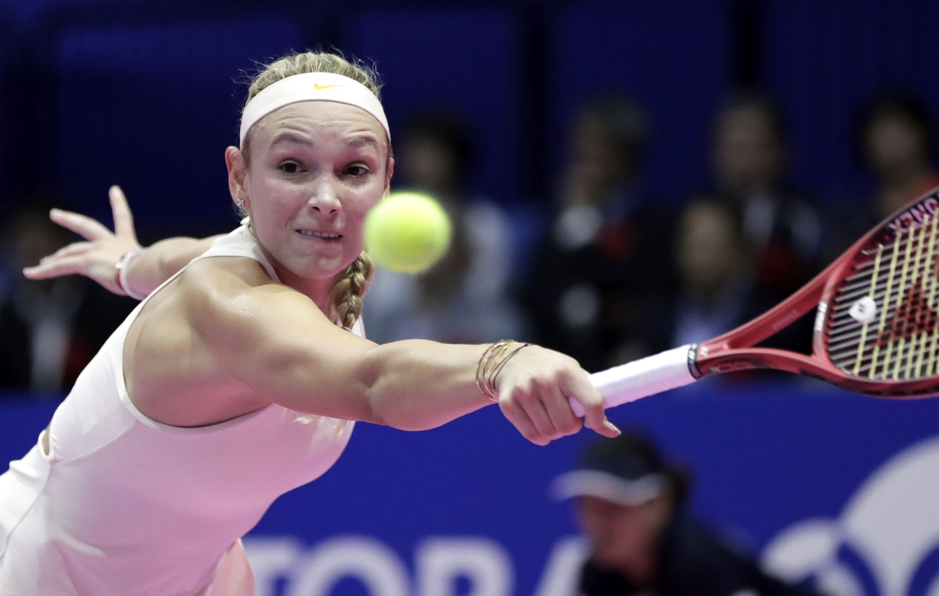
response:
[[[937,223],[912,224],[905,237],[901,231],[892,245],[867,252],[872,258],[842,283],[826,326],[835,366],[884,379],[939,373]],[[854,313],[860,300],[868,302],[866,316]]]

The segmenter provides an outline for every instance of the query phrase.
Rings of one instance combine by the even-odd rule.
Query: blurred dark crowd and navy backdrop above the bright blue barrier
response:
[[[257,65],[374,63],[394,190],[455,222],[381,271],[370,338],[562,350],[598,370],[709,339],[939,185],[939,3],[0,0],[0,390],[57,399],[133,301],[20,269],[51,206],[145,244],[231,229],[223,149]],[[808,350],[810,328],[778,344]]]

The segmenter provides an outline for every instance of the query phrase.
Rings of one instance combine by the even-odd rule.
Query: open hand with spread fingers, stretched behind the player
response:
[[[140,242],[133,229],[133,216],[124,192],[113,186],[108,197],[114,215],[114,232],[80,213],[53,209],[49,218],[84,237],[85,241],[73,242],[43,257],[37,266],[25,267],[23,275],[30,280],[47,280],[78,273],[124,296],[124,290],[115,282],[115,265],[128,251],[140,248]]]

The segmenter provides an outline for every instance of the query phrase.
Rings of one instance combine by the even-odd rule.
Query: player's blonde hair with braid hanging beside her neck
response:
[[[357,81],[375,94],[375,97],[381,99],[381,84],[378,82],[378,76],[375,69],[372,69],[358,60],[349,60],[338,53],[326,52],[304,52],[294,53],[284,56],[267,65],[257,76],[254,77],[248,87],[248,98],[245,99],[245,105],[251,101],[255,95],[261,92],[270,84],[277,83],[295,74],[305,72],[330,72],[332,74],[341,74],[353,81]],[[241,152],[244,154],[245,163],[248,162],[248,147],[251,142],[251,131],[245,137]],[[392,157],[392,148],[388,147],[388,161],[385,163],[385,172],[388,172]],[[244,209],[241,209],[244,211]],[[247,215],[247,212],[242,213]],[[368,289],[368,283],[375,272],[375,263],[365,252],[362,252],[356,260],[346,267],[339,279],[332,285],[331,301],[332,307],[339,315],[339,322],[348,329],[352,328],[356,319],[362,313],[362,296]]]

